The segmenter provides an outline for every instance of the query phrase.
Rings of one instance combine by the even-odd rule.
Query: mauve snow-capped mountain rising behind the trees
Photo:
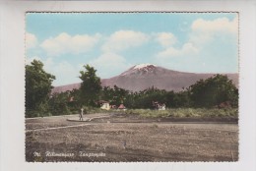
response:
[[[168,70],[153,64],[140,64],[133,66],[129,70],[121,73],[120,75],[102,79],[102,86],[113,86],[139,91],[145,88],[155,86],[160,89],[182,90],[182,87],[188,87],[189,85],[195,84],[201,79],[207,79],[216,74],[196,74],[196,73],[185,73],[173,70]],[[238,86],[238,74],[224,74],[228,79],[232,80],[236,87]],[[71,90],[73,88],[79,88],[80,84],[56,86],[53,88],[54,92],[60,90]]]

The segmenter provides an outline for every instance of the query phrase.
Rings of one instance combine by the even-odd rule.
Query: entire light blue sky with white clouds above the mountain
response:
[[[42,61],[53,85],[79,83],[86,64],[100,78],[141,63],[238,72],[236,13],[30,13],[26,27],[27,64]]]

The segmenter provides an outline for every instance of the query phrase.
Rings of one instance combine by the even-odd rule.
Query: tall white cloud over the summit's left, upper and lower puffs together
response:
[[[100,78],[110,78],[121,74],[131,67],[125,57],[120,55],[124,50],[130,50],[147,43],[151,35],[135,30],[117,30],[105,37],[101,46],[101,55],[89,62],[97,69]]]

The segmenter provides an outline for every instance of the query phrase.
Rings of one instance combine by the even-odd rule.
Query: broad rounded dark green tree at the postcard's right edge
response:
[[[211,107],[225,101],[230,101],[234,107],[238,105],[238,89],[223,75],[200,80],[189,89],[193,104],[197,107]]]

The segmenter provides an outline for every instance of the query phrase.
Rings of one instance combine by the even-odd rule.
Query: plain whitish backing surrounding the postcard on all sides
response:
[[[236,163],[27,163],[25,162],[26,11],[237,11],[240,19],[240,146]],[[2,1],[0,2],[0,170],[256,170],[254,1]]]

